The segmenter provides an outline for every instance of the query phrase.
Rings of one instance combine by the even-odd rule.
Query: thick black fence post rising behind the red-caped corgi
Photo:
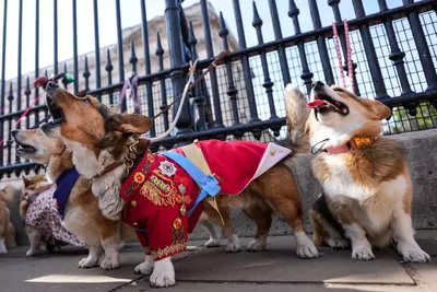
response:
[[[186,73],[180,66],[185,63],[182,34],[180,30],[179,5],[180,0],[166,0],[165,1],[165,23],[167,26],[168,51],[170,55],[172,83],[173,83],[173,97],[178,98],[184,92],[184,83],[186,81]],[[176,116],[179,108],[180,100],[177,100],[174,105],[173,115]],[[177,135],[190,132],[192,127],[192,117],[190,113],[190,105],[186,98],[182,112],[176,124],[178,129]]]

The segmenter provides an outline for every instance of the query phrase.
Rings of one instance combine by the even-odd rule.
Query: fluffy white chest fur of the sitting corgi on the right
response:
[[[322,185],[326,196],[345,206],[367,232],[386,232],[393,210],[403,208],[408,178],[401,174],[371,188],[355,183],[350,170],[336,155],[328,156],[326,162],[332,173]]]

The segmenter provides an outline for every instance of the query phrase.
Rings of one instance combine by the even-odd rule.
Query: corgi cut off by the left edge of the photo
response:
[[[15,188],[11,185],[0,190],[0,255],[8,254],[8,248],[16,246],[15,229],[8,209],[8,203],[13,201],[14,196]]]

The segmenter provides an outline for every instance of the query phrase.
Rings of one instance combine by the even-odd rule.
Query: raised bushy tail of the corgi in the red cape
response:
[[[288,84],[285,87],[285,113],[287,138],[286,147],[298,153],[309,151],[308,135],[305,132],[305,125],[309,116],[307,98],[295,85]]]

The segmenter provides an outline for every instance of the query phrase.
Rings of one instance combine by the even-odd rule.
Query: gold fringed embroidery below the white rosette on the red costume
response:
[[[191,203],[190,196],[180,194],[173,179],[162,175],[160,170],[152,172],[140,194],[155,206],[174,207],[176,203]]]

